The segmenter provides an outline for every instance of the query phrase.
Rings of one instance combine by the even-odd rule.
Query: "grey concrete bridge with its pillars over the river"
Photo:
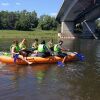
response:
[[[95,37],[95,20],[99,17],[100,0],[64,0],[56,19],[61,22],[61,33],[66,37]],[[78,24],[82,27],[79,34],[75,33]]]

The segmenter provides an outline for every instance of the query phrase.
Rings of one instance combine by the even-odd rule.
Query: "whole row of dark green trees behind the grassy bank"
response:
[[[56,30],[58,22],[55,17],[42,15],[38,18],[35,11],[1,11],[0,12],[0,29],[23,30],[29,31],[34,28],[42,30]]]

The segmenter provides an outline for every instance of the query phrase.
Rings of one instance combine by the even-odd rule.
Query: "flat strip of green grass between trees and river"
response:
[[[0,38],[57,38],[57,31],[17,31],[0,30]]]

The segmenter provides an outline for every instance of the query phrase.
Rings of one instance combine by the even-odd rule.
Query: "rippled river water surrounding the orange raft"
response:
[[[100,40],[64,40],[85,61],[31,66],[0,64],[0,100],[100,100]],[[2,40],[0,48],[8,48]],[[5,49],[6,50],[6,49]]]

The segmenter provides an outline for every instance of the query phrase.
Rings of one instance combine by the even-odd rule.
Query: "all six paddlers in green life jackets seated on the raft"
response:
[[[42,40],[39,44],[38,39],[35,39],[32,43],[31,48],[28,49],[26,39],[23,39],[21,42],[14,40],[12,45],[10,46],[10,52],[15,62],[16,59],[20,58],[28,64],[32,64],[32,62],[29,62],[27,60],[28,56],[48,57],[55,55],[63,57],[63,63],[66,59],[67,54],[62,52],[62,50],[65,50],[62,48],[62,44],[62,40],[59,40],[57,44],[53,44],[52,39],[48,43],[46,43],[45,40]]]

